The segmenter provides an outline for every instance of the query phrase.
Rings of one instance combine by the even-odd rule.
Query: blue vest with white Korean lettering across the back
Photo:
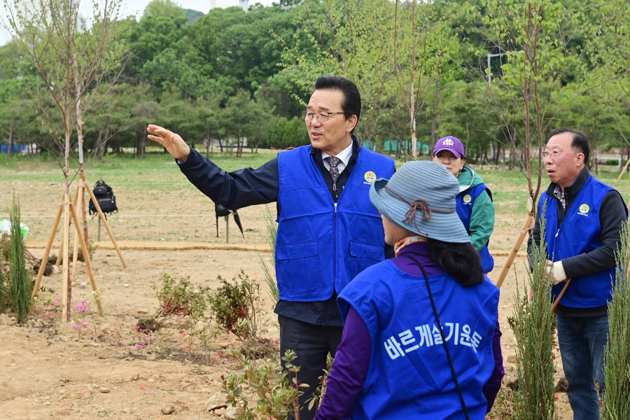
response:
[[[447,273],[428,279],[468,414],[483,420],[499,290],[487,278],[467,288]],[[463,419],[423,276],[406,274],[387,260],[356,276],[337,302],[344,319],[349,305],[356,309],[372,341],[353,420]]]

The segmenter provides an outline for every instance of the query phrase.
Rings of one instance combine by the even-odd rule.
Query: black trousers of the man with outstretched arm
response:
[[[307,401],[313,398],[313,393],[320,384],[319,377],[323,375],[328,353],[335,357],[344,328],[314,325],[281,315],[278,316],[278,322],[280,356],[283,357],[286,350],[295,351],[297,358],[293,364],[300,366],[297,380],[300,384],[309,385],[308,388],[302,388],[304,395],[300,397],[300,420],[312,420],[315,417],[315,407],[309,411]],[[284,363],[286,362],[282,361],[283,367]],[[289,416],[289,420],[293,420],[293,416]]]

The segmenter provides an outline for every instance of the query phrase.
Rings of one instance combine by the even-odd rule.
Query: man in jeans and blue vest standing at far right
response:
[[[547,276],[556,307],[562,367],[573,419],[599,419],[598,391],[605,388],[603,354],[608,340],[608,302],[615,279],[615,251],[628,210],[619,192],[589,173],[589,142],[570,128],[552,132],[542,152],[551,183],[538,203],[531,241],[540,244],[540,212],[546,202]]]

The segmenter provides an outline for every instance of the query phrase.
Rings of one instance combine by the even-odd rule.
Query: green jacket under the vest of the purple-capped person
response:
[[[481,176],[472,169],[470,165],[464,165],[461,174],[457,177],[459,181],[459,192],[468,190],[474,186],[484,183]],[[477,252],[488,243],[490,235],[494,230],[494,204],[484,191],[472,204],[472,214],[470,215],[470,243]]]

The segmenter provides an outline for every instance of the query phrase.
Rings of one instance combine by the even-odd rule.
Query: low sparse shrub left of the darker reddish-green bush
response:
[[[171,316],[201,318],[206,311],[206,288],[199,288],[190,281],[190,276],[181,277],[179,282],[169,274],[162,274],[160,284],[153,283],[159,307],[155,318]]]

